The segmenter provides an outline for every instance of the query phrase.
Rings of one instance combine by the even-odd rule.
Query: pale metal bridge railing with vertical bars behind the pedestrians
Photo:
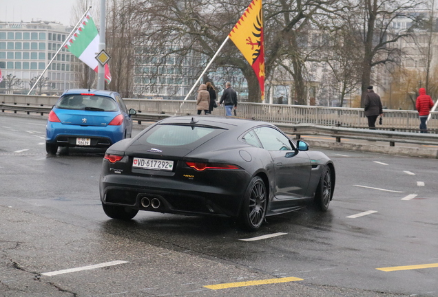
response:
[[[0,94],[0,103],[3,105],[28,105],[52,107],[58,100],[55,96],[23,96]],[[155,113],[166,115],[195,115],[195,100],[145,100],[124,99],[128,108],[141,113]],[[36,111],[39,112],[39,111]],[[225,115],[225,109],[218,107],[213,115]],[[368,121],[363,109],[344,107],[319,107],[286,104],[264,104],[239,102],[237,116],[253,120],[263,120],[272,123],[289,124],[316,124],[324,126],[343,126],[366,128]],[[419,117],[417,111],[384,110],[383,124],[377,124],[379,129],[393,131],[419,131]],[[438,131],[438,112],[432,113],[428,121],[428,129],[433,133]]]

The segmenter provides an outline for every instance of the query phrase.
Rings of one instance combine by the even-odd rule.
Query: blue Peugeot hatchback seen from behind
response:
[[[59,146],[107,148],[131,137],[134,114],[114,91],[69,89],[49,113],[45,150],[55,155]]]

